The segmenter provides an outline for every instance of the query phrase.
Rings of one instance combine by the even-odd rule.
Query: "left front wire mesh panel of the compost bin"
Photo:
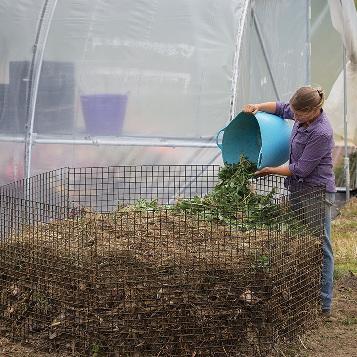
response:
[[[22,217],[1,237],[2,326],[8,337],[32,342],[34,348],[71,351],[77,346],[85,354],[97,341],[91,340],[96,327],[80,315],[96,320],[95,256],[88,239],[79,239],[93,235],[90,216],[74,218],[61,207],[37,202],[23,208],[16,217],[28,208],[32,216]],[[53,346],[59,336],[63,343]]]

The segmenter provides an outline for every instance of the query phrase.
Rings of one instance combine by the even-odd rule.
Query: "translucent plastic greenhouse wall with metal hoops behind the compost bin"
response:
[[[0,183],[222,163],[248,102],[310,84],[310,0],[2,0]]]

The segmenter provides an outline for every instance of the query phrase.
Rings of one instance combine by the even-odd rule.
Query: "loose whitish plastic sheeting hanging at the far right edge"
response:
[[[357,145],[357,13],[353,0],[328,0],[332,23],[346,48],[347,139]],[[341,52],[342,58],[342,52]],[[344,75],[340,73],[326,100],[324,109],[334,132],[345,136]]]

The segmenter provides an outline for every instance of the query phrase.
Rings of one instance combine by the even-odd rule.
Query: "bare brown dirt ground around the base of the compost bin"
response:
[[[318,329],[302,338],[295,349],[275,357],[355,357],[357,356],[357,277],[335,282],[333,311],[321,318]],[[64,357],[62,354],[34,352],[29,347],[0,339],[0,357]]]

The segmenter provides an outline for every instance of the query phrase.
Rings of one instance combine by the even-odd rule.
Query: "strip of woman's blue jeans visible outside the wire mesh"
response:
[[[326,192],[325,232],[322,258],[322,308],[329,310],[333,295],[333,251],[331,246],[331,206],[335,201],[335,193]]]

